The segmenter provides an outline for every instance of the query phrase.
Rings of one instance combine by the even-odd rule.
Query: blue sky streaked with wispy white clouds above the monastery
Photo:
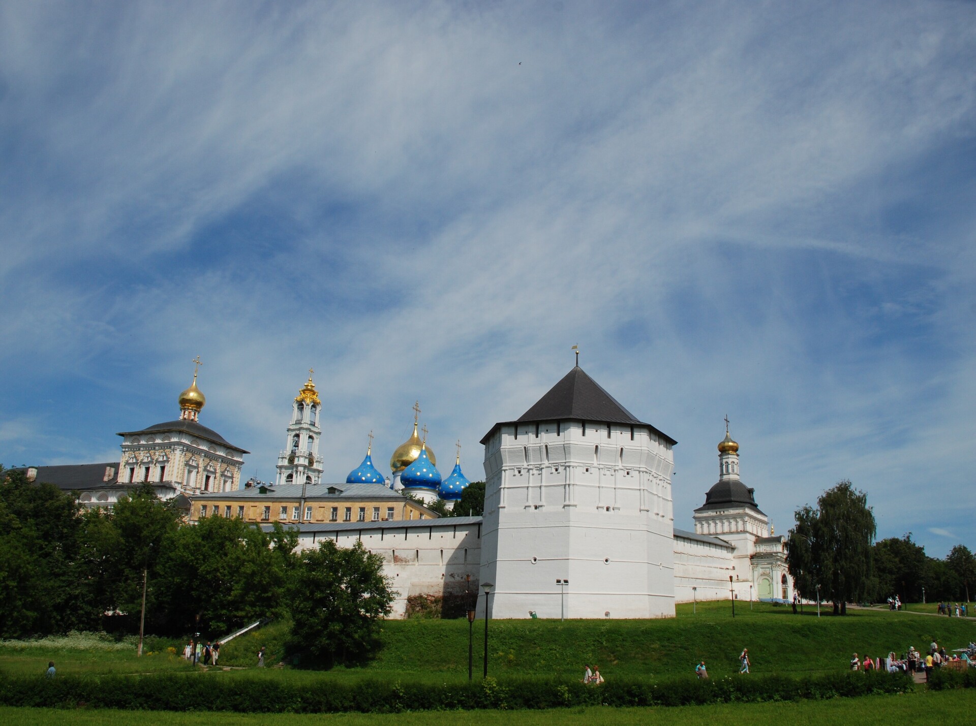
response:
[[[0,6],[0,462],[201,422],[327,478],[420,399],[447,464],[572,366],[679,442],[728,414],[777,531],[849,477],[976,548],[976,5]]]

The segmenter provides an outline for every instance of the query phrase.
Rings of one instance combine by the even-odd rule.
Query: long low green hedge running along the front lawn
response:
[[[964,676],[965,674],[959,674]],[[621,679],[600,686],[559,678],[486,678],[472,683],[307,681],[267,678],[213,679],[178,674],[145,676],[6,678],[4,706],[89,706],[129,710],[384,713],[457,708],[563,706],[688,706],[730,702],[830,699],[910,691],[912,680],[886,673],[843,672],[793,678],[783,675],[694,677],[658,681]]]

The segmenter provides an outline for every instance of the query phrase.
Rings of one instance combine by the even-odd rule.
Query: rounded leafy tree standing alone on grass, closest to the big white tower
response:
[[[393,592],[383,574],[383,557],[357,542],[332,540],[306,549],[287,586],[293,649],[330,665],[366,656]]]

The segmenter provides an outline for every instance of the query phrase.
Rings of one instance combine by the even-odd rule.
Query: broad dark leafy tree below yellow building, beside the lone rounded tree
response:
[[[169,534],[153,585],[160,627],[220,637],[277,615],[292,555],[271,544],[260,527],[236,518],[205,517]]]

